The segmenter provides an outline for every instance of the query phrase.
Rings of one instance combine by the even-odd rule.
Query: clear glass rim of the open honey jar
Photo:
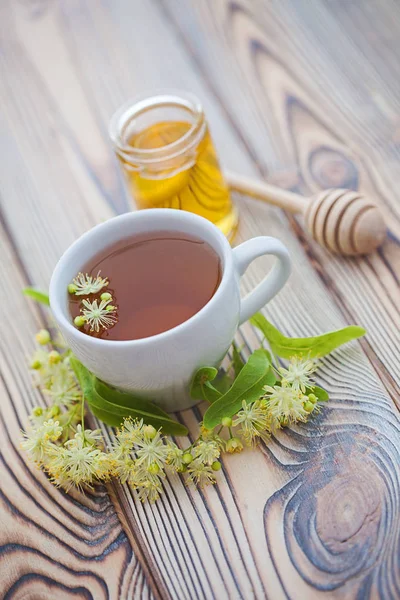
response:
[[[132,119],[152,108],[162,106],[180,106],[194,115],[195,120],[189,129],[177,140],[159,148],[135,148],[123,139]],[[122,104],[112,115],[109,124],[109,135],[115,151],[128,162],[137,160],[140,163],[169,160],[186,152],[197,144],[204,135],[205,117],[203,107],[198,98],[191,92],[181,90],[157,90],[153,95],[142,94]]]

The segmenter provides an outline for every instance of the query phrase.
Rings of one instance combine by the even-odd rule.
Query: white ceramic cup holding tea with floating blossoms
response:
[[[86,262],[108,246],[151,231],[187,233],[214,248],[222,263],[221,283],[214,296],[181,325],[152,337],[114,341],[79,331],[68,310],[68,284]],[[276,264],[250,294],[241,298],[240,277],[255,258],[264,254],[276,256]],[[289,273],[288,251],[275,238],[256,237],[232,249],[220,230],[203,217],[180,210],[141,210],[97,225],[70,246],[54,270],[50,305],[68,345],[92,373],[115,387],[154,400],[167,411],[175,411],[196,403],[189,395],[196,370],[221,362],[238,326],[279,292]],[[112,277],[112,273],[104,275]]]

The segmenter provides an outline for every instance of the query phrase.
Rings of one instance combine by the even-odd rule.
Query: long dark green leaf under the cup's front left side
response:
[[[97,379],[76,357],[71,357],[71,367],[82,389],[90,410],[101,421],[117,427],[125,417],[143,419],[156,429],[162,428],[168,435],[187,435],[184,425],[174,421],[161,408],[127,392],[119,392]]]

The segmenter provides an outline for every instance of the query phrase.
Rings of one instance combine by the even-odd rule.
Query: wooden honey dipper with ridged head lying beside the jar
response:
[[[313,238],[337,254],[368,254],[386,237],[381,211],[359,192],[329,189],[305,198],[236,173],[225,172],[225,179],[232,190],[302,213]]]

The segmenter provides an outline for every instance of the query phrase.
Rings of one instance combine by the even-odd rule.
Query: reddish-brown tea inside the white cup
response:
[[[100,272],[108,285],[96,294],[70,294],[72,319],[83,314],[84,301],[97,300],[99,306],[102,294],[112,297],[109,326],[96,331],[87,321],[81,331],[107,340],[135,340],[172,329],[195,315],[215,294],[222,267],[215,250],[200,238],[159,231],[118,241],[81,271],[94,278]]]

